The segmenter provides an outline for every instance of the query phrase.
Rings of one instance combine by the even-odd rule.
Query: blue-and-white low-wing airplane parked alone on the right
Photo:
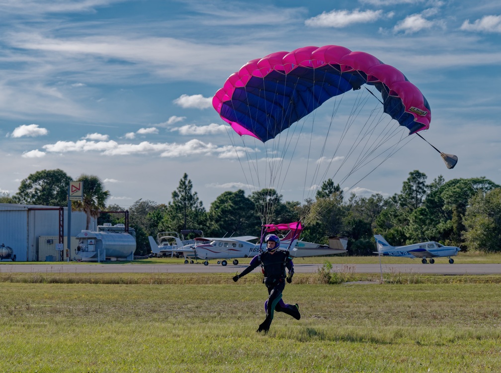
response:
[[[438,242],[422,242],[407,246],[391,246],[386,242],[383,236],[374,235],[376,239],[376,245],[378,251],[375,254],[382,256],[392,256],[392,257],[403,257],[403,258],[421,258],[421,263],[426,264],[428,261],[426,258],[430,258],[430,264],[435,263],[433,258],[447,257],[449,258],[449,263],[454,263],[454,259],[451,256],[456,256],[461,250],[455,246],[443,246]]]

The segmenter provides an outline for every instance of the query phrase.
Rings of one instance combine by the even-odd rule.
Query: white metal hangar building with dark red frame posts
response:
[[[74,246],[78,240],[74,237],[85,230],[86,219],[83,212],[71,213],[70,260],[76,259]],[[60,260],[56,244],[62,237],[66,251],[67,229],[67,207],[0,204],[0,245],[12,248],[17,261]],[[96,229],[97,219],[91,218],[89,230]]]

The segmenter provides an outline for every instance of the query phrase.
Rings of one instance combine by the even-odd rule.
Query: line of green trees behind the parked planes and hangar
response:
[[[202,230],[206,237],[260,236],[263,209],[267,220],[289,223],[302,220],[305,241],[326,244],[328,237],[348,238],[349,255],[371,255],[373,235],[381,234],[394,245],[437,241],[463,250],[501,251],[501,186],[485,177],[443,176],[426,183],[419,170],[409,173],[402,190],[384,198],[381,194],[345,196],[339,185],[327,179],[315,199],[284,201],[273,189],[253,192],[223,192],[208,211],[193,190],[186,173],[172,192],[171,201],[157,203],[139,199],[129,208],[129,225],[136,230],[136,254],[150,252],[148,236],[158,232]],[[0,203],[67,206],[68,184],[73,179],[63,170],[42,170],[21,181],[18,192],[0,194]],[[125,211],[118,205],[106,205],[110,192],[98,176],[80,175],[84,181],[84,201],[73,202],[74,210],[85,211],[88,221],[98,224],[123,223],[123,217],[106,211]],[[272,208],[269,208],[272,207]]]

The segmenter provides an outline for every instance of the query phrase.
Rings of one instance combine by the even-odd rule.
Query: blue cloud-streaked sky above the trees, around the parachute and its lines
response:
[[[354,192],[392,195],[414,169],[501,183],[499,2],[0,0],[0,192],[62,168],[123,207],[167,203],[184,172],[207,209],[248,194],[212,96],[249,60],[331,44],[401,70],[430,103],[423,136],[459,157],[448,170],[412,139]]]

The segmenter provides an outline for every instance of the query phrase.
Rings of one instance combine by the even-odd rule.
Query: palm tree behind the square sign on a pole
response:
[[[83,201],[73,201],[72,207],[76,211],[83,211],[87,215],[86,230],[89,230],[91,217],[97,218],[99,212],[106,208],[106,200],[110,191],[104,190],[104,184],[98,176],[82,173],[75,181],[82,181],[84,188]]]

